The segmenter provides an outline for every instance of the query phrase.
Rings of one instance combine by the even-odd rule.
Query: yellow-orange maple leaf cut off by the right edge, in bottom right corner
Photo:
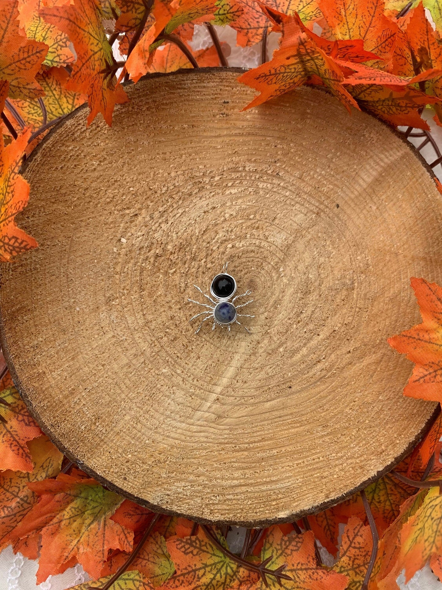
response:
[[[432,487],[420,509],[403,526],[400,533],[400,569],[405,568],[405,581],[424,567],[428,559],[442,552],[442,494]]]

